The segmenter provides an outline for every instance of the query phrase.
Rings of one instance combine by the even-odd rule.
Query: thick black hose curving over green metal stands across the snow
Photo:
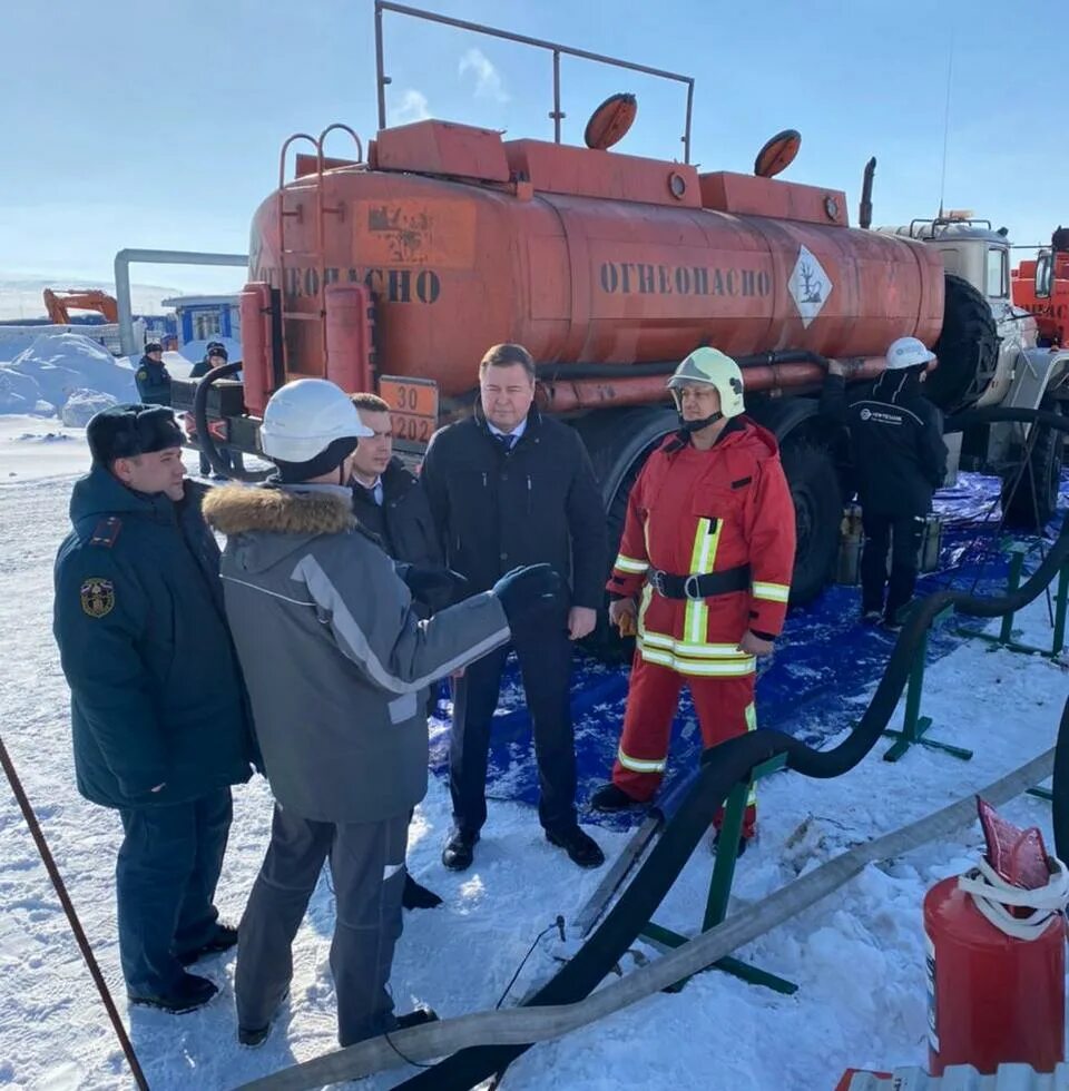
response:
[[[1038,410],[972,410],[951,417],[947,431],[993,421],[1019,421],[1049,425],[1069,433],[1069,421],[1057,413]],[[876,687],[869,708],[838,746],[815,750],[782,731],[759,729],[728,739],[706,750],[702,766],[675,816],[639,868],[628,888],[605,921],[580,947],[573,959],[524,1004],[569,1004],[589,995],[634,943],[640,930],[671,888],[695,847],[708,829],[732,788],[749,779],[753,770],[771,758],[785,754],[787,766],[804,776],[830,778],[854,768],[876,745],[905,689],[913,657],[921,638],[948,606],[968,617],[993,618],[1017,611],[1037,599],[1069,558],[1069,518],[1037,570],[1017,591],[998,598],[980,598],[963,591],[939,591],[919,600],[894,646],[891,660]],[[1069,852],[1069,711],[1063,714],[1055,759],[1055,828],[1059,855]],[[1061,789],[1061,790],[1059,790]],[[503,1071],[530,1045],[480,1045],[461,1050],[398,1084],[410,1091],[469,1091],[497,1072]]]

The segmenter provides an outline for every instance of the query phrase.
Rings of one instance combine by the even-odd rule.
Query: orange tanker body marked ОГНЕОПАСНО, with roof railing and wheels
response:
[[[413,13],[380,0],[377,32],[391,10]],[[852,228],[841,190],[774,177],[797,151],[794,131],[768,141],[753,175],[699,171],[609,150],[637,109],[619,95],[595,111],[585,147],[567,146],[556,83],[553,141],[440,120],[389,128],[377,45],[380,129],[366,157],[345,126],[283,147],[278,188],[252,225],[243,384],[202,392],[200,434],[256,453],[271,393],[325,376],[377,390],[418,461],[435,427],[471,412],[486,348],[520,342],[539,364],[540,405],[582,436],[618,524],[644,460],[677,426],[667,376],[713,344],[738,360],[747,412],[779,438],[797,514],[793,598],[812,599],[834,566],[844,497],[843,436],[816,397],[827,358],[860,382],[879,374],[891,341],[913,335],[939,354],[933,400],[973,404],[999,366],[983,294],[944,276],[923,242]],[[693,92],[687,77],[654,75]],[[324,156],[332,130],[353,138],[353,159]],[[300,139],[313,154],[287,181]],[[183,396],[193,404],[192,389],[176,405]]]

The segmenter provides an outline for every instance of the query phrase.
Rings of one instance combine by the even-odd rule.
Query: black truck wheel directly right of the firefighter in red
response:
[[[788,438],[782,458],[794,500],[797,535],[791,603],[798,606],[812,602],[832,578],[838,556],[843,495],[832,452],[826,446]]]

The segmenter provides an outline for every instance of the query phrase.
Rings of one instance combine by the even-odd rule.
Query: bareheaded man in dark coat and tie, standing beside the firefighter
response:
[[[605,856],[576,817],[569,684],[571,641],[592,631],[602,599],[606,521],[594,468],[577,432],[533,405],[534,362],[522,345],[494,345],[479,365],[473,416],[431,438],[421,478],[451,569],[469,592],[518,564],[549,563],[570,606],[540,630],[517,633],[538,759],[539,819],[547,839],[580,867]],[[450,748],[453,828],[442,863],[471,865],[487,819],[490,726],[508,648],[471,664],[457,682]]]

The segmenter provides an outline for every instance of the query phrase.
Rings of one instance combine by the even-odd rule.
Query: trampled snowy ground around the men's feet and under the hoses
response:
[[[195,468],[195,453],[189,465]],[[119,824],[75,790],[67,690],[51,639],[51,564],[67,531],[71,483],[87,462],[82,433],[55,420],[0,419],[0,667],[2,731],[55,852],[84,926],[127,1018],[154,1089],[224,1089],[335,1046],[327,951],[333,918],[325,882],[295,949],[293,1000],[267,1044],[242,1051],[234,1039],[233,953],[206,964],[222,995],[186,1016],[126,1010],[115,942],[112,868]],[[1020,619],[1023,636],[1049,639],[1046,606]],[[849,648],[844,647],[844,655]],[[833,782],[778,774],[761,792],[761,834],[743,858],[742,900],[757,901],[814,862],[968,795],[1050,746],[1069,674],[1039,657],[963,643],[929,671],[924,711],[934,737],[975,748],[962,763],[916,748],[896,765],[877,749]],[[864,692],[844,692],[859,711]],[[235,822],[219,887],[237,920],[268,835],[263,780],[235,792]],[[1050,837],[1049,807],[1022,797],[1006,808]],[[807,832],[793,835],[803,824]],[[572,867],[540,836],[533,810],[491,803],[474,867],[439,863],[449,825],[448,793],[433,778],[412,829],[409,863],[445,905],[408,914],[394,963],[400,1009],[413,1002],[442,1015],[492,1008],[536,935],[560,913],[570,918],[597,886],[598,872]],[[588,826],[588,828],[591,828]],[[102,1005],[37,857],[13,797],[0,786],[0,1087],[105,1089],[131,1085]],[[626,834],[595,830],[608,853]],[[529,1051],[509,1070],[506,1091],[643,1088],[825,1089],[850,1065],[889,1069],[926,1058],[921,903],[936,879],[974,857],[977,828],[883,867],[870,867],[833,897],[742,952],[797,981],[790,997],[706,973],[656,997]],[[712,857],[705,849],[680,876],[658,921],[697,925]],[[651,951],[647,952],[653,955]],[[551,972],[539,950],[513,995]],[[361,1084],[392,1087],[394,1072]]]

